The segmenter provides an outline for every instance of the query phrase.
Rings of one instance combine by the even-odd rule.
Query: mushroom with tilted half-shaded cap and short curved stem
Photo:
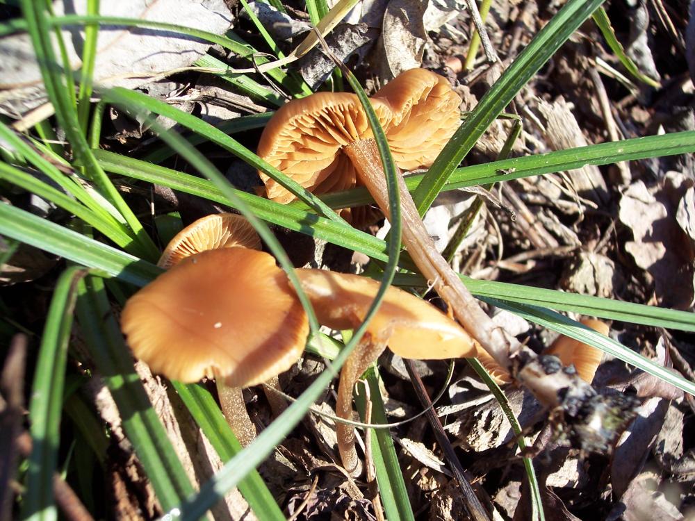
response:
[[[325,270],[296,270],[302,290],[311,300],[318,322],[332,329],[355,329],[379,290],[379,283],[352,274]],[[352,388],[389,346],[403,358],[439,360],[473,356],[475,341],[456,322],[422,299],[398,288],[386,291],[382,305],[341,370],[336,415],[352,419]],[[354,428],[338,423],[338,452],[345,470],[361,474],[354,448]]]

